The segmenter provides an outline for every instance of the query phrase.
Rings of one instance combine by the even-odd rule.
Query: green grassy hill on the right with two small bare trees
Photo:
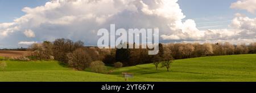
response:
[[[229,55],[175,60],[171,71],[145,64],[115,70],[146,81],[256,81],[256,55]]]

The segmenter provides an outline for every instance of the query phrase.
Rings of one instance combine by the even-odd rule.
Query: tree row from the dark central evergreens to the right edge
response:
[[[224,43],[168,43],[159,44],[158,55],[148,55],[148,49],[115,49],[110,54],[105,55],[103,61],[106,64],[113,64],[121,61],[124,66],[137,64],[154,63],[170,59],[187,59],[201,56],[218,56],[234,54],[255,54],[256,43],[250,45],[232,45]],[[158,64],[158,63],[156,63]]]

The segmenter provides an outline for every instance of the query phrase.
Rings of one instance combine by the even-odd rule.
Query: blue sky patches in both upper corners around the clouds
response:
[[[12,22],[16,17],[24,15],[22,8],[42,6],[49,0],[0,0],[0,23]],[[237,0],[179,0],[179,6],[186,16],[184,20],[193,19],[197,28],[222,29],[228,28],[234,14],[241,12],[249,17],[255,15],[245,10],[234,10],[230,4]]]

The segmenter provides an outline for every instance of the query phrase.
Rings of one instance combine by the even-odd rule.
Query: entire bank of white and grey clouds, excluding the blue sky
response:
[[[242,0],[233,3],[255,3]],[[243,7],[249,12],[254,6]],[[177,0],[52,0],[44,6],[24,7],[26,15],[13,23],[0,24],[0,42],[53,41],[69,38],[97,45],[97,30],[110,28],[159,28],[160,40],[170,41],[255,41],[255,18],[237,14],[231,29],[199,30],[192,19],[185,18]],[[19,43],[20,44],[20,43]],[[24,43],[23,43],[24,44]]]

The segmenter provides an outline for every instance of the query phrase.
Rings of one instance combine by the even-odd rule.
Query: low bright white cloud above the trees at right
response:
[[[256,37],[256,18],[249,18],[242,14],[236,17],[229,25],[229,29],[208,29],[199,30],[196,28],[195,21],[185,21],[175,33],[163,34],[163,39],[183,40],[183,41],[229,41],[228,39],[253,39]]]

